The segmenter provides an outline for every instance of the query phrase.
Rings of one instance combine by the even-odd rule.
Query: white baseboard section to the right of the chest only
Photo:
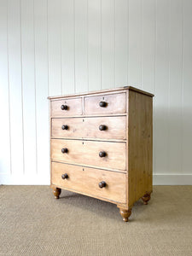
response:
[[[192,185],[192,174],[154,174],[154,185]]]

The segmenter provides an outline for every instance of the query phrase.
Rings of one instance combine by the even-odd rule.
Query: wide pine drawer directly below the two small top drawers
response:
[[[52,137],[126,138],[126,117],[52,119]]]

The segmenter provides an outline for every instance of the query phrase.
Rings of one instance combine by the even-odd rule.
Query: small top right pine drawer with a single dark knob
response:
[[[125,93],[84,97],[84,114],[125,113]],[[101,107],[102,106],[102,107]]]

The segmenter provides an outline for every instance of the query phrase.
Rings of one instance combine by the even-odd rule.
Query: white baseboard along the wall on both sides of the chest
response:
[[[45,175],[10,175],[0,174],[0,185],[49,185],[49,174]],[[192,174],[154,174],[154,185],[192,185]]]

